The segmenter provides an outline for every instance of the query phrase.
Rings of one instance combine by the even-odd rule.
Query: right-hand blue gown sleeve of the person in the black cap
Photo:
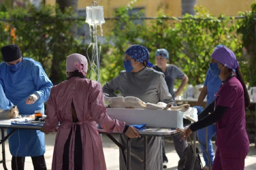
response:
[[[34,63],[31,74],[37,89],[37,91],[34,93],[39,96],[37,102],[44,103],[48,100],[50,96],[50,91],[53,84],[45,73],[42,65],[38,62]]]

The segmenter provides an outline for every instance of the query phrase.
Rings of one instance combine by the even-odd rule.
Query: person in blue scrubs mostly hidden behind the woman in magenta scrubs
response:
[[[217,49],[218,47],[226,47],[226,46],[225,45],[217,45],[215,47],[215,49]],[[211,66],[210,66],[210,68],[208,69],[208,71],[206,73],[206,78],[204,80],[204,86],[203,86],[201,93],[198,97],[196,106],[194,106],[194,108],[197,109],[198,114],[200,114],[204,110],[204,108],[201,105],[202,105],[202,102],[204,101],[204,98],[206,97],[206,95],[207,95],[206,106],[208,106],[214,100],[214,94],[216,94],[218,92],[220,85],[222,84],[221,79],[218,76],[213,75],[214,71],[216,71],[216,70],[211,69]],[[207,127],[207,141],[205,141],[205,128],[199,129],[197,131],[197,137],[198,137],[198,140],[200,141],[201,150],[205,150],[206,142],[208,143],[208,154],[209,154],[211,165],[213,164],[213,160],[214,160],[212,137],[215,134],[216,134],[215,124]],[[207,159],[206,152],[203,152],[203,158],[205,161],[205,166],[204,166],[203,170],[208,170],[209,169],[209,161]]]

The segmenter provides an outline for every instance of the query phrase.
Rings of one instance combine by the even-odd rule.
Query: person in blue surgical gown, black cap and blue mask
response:
[[[0,84],[6,98],[18,107],[20,115],[32,115],[36,110],[44,114],[44,102],[53,84],[42,65],[22,57],[18,45],[6,45],[1,52],[4,62],[0,64]],[[11,131],[8,129],[7,133]],[[13,170],[24,170],[25,156],[31,156],[35,170],[47,169],[44,133],[40,130],[18,130],[8,142]]]

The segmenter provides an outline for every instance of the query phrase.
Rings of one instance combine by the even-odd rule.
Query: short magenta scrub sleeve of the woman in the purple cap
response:
[[[216,98],[216,106],[231,108],[236,101],[236,96],[236,90],[232,86],[224,86]]]

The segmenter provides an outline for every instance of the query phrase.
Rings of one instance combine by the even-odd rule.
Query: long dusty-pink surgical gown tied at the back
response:
[[[71,102],[79,122],[73,123]],[[106,113],[102,87],[97,82],[80,77],[71,77],[51,90],[46,107],[44,127],[55,131],[61,122],[56,136],[52,159],[52,170],[62,170],[64,145],[73,127],[69,148],[69,170],[74,170],[74,143],[76,126],[80,126],[83,148],[83,170],[106,170],[102,141],[97,131],[96,122],[109,133],[122,132],[125,123],[114,120]]]

